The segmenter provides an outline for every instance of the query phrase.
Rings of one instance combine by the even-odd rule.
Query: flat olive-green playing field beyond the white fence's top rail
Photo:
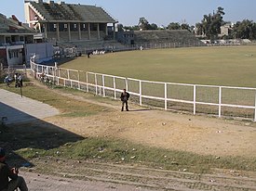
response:
[[[77,57],[61,67],[168,83],[256,87],[256,45],[119,52]]]

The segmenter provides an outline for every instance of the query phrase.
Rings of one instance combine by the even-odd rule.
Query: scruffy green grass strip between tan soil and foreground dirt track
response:
[[[256,172],[255,159],[236,157],[201,156],[190,152],[141,146],[123,140],[87,138],[75,143],[66,143],[53,149],[34,149],[31,147],[17,150],[26,159],[52,156],[61,159],[94,159],[99,162],[140,163],[178,171],[211,172],[212,169],[232,169]]]

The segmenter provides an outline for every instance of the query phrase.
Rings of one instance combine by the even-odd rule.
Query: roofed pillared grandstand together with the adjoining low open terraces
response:
[[[75,47],[82,53],[99,49],[137,49],[147,45],[152,48],[153,44],[156,48],[155,44],[168,44],[168,47],[205,45],[188,31],[141,31],[131,35],[115,32],[117,21],[99,6],[26,0],[25,17],[29,26],[41,33],[47,42],[64,48]]]

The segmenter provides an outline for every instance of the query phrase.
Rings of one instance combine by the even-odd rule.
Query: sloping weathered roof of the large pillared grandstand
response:
[[[91,23],[115,23],[113,19],[102,7],[99,6],[85,6],[54,3],[49,1],[26,1],[40,13],[46,21],[83,21]]]

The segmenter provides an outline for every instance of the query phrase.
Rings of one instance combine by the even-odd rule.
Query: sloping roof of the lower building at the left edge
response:
[[[34,30],[22,24],[14,15],[8,18],[0,13],[0,34],[34,34]]]

